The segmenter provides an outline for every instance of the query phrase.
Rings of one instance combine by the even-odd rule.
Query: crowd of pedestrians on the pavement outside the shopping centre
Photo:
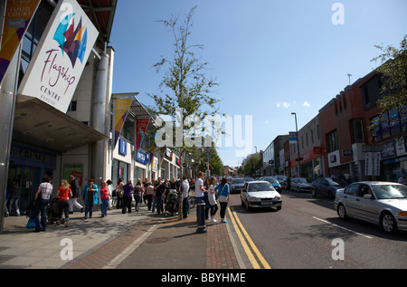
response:
[[[190,191],[194,192],[196,202],[204,201],[206,220],[216,223],[218,220],[215,216],[220,210],[221,223],[227,223],[225,220],[225,211],[229,202],[227,180],[222,178],[219,182],[216,177],[204,179],[203,172],[199,173],[195,181],[186,177],[182,179],[173,177],[171,180],[158,177],[150,181],[146,177],[144,181],[138,178],[136,184],[133,184],[132,180],[128,180],[125,184],[121,178],[118,178],[115,185],[109,179],[101,181],[98,186],[90,178],[88,184],[81,190],[79,180],[71,176],[69,180],[62,179],[55,198],[52,198],[52,189],[51,177],[45,175],[30,205],[30,217],[32,222],[35,222],[37,232],[46,230],[50,213],[48,208],[52,207],[52,210],[57,209],[53,210],[57,213],[56,224],[64,223],[69,227],[69,216],[73,213],[74,206],[80,210],[80,213],[84,212],[83,220],[93,217],[94,206],[98,204],[101,217],[107,216],[114,206],[121,209],[122,214],[132,213],[133,210],[138,212],[143,203],[148,211],[161,215],[168,210],[166,205],[169,205],[173,198],[176,198],[175,206],[178,207],[178,196],[182,196],[182,217],[187,218],[190,213]],[[81,198],[83,206],[78,202],[78,198]],[[56,202],[55,205],[53,205],[54,202]],[[171,211],[177,212],[179,209],[175,208]]]

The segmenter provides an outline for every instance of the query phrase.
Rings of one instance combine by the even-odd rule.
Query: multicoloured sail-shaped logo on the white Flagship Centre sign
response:
[[[82,18],[80,18],[80,23],[75,28],[74,15],[74,13],[67,15],[58,25],[53,35],[53,40],[60,44],[62,54],[67,53],[70,57],[72,68],[75,68],[77,59],[83,63],[88,43],[88,30],[85,26],[82,26]]]

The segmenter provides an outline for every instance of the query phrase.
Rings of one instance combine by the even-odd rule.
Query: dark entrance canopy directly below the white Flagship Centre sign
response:
[[[65,152],[108,138],[43,100],[26,100],[15,106],[13,140]]]

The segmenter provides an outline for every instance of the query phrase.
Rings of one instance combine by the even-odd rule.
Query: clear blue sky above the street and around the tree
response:
[[[333,24],[335,3],[343,5],[344,24]],[[172,58],[172,34],[157,23],[171,14],[183,18],[197,5],[188,41],[209,62],[219,82],[212,96],[221,111],[252,116],[252,152],[278,135],[298,129],[351,81],[379,63],[375,44],[399,43],[407,33],[407,1],[274,0],[120,0],[110,45],[115,48],[113,92],[159,92],[164,73],[152,67]],[[243,139],[244,139],[244,132]],[[239,166],[235,148],[219,148],[224,165]]]

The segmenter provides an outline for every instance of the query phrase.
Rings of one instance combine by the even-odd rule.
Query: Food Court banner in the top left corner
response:
[[[7,1],[0,49],[0,84],[41,0]]]

